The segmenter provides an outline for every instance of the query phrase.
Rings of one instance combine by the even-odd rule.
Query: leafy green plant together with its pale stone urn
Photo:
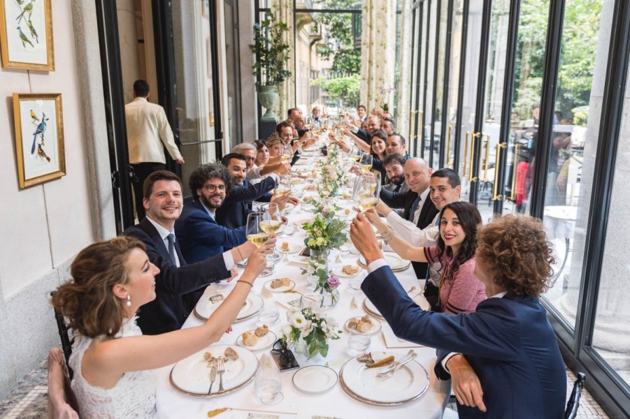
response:
[[[282,34],[288,30],[288,25],[276,22],[271,13],[254,25],[254,44],[250,48],[256,54],[253,69],[258,101],[267,110],[262,121],[275,122],[278,117],[275,109],[280,103],[278,86],[291,77],[291,72],[285,69],[285,62],[289,60],[289,45],[282,42]]]

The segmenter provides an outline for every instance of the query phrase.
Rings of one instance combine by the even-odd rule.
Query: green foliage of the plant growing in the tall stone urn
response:
[[[282,41],[282,34],[289,30],[285,22],[276,22],[272,13],[267,13],[265,19],[254,24],[254,44],[250,49],[256,54],[256,62],[252,67],[254,75],[259,80],[256,87],[277,86],[291,77],[291,72],[285,69],[285,62],[289,61],[289,45]]]

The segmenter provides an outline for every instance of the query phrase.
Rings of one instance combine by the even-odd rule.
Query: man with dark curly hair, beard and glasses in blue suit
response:
[[[227,228],[216,221],[217,208],[229,193],[230,184],[229,170],[221,163],[203,164],[190,174],[188,186],[194,200],[184,205],[175,222],[177,240],[189,263],[245,242],[245,226]]]

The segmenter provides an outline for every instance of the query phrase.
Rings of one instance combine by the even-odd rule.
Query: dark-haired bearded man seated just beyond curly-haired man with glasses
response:
[[[225,197],[223,205],[217,208],[216,220],[227,228],[245,226],[248,214],[252,212],[252,202],[275,202],[280,208],[287,201],[297,204],[296,198],[285,196],[272,196],[269,191],[275,187],[275,180],[267,177],[255,185],[245,179],[247,167],[243,154],[230,153],[221,159],[223,166],[229,170],[232,181],[229,195]]]

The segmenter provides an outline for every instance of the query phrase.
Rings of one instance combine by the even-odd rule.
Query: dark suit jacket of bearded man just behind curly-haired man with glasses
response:
[[[252,212],[252,202],[260,200],[269,202],[268,193],[275,187],[275,179],[266,177],[255,185],[245,179],[242,185],[232,185],[223,205],[217,209],[217,223],[227,228],[245,226],[248,214]]]

